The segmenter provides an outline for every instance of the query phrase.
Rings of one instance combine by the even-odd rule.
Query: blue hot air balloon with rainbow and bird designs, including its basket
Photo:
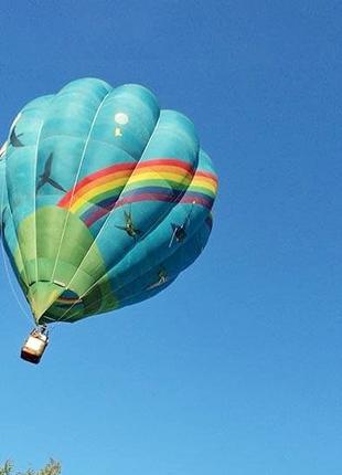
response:
[[[136,84],[83,78],[30,102],[0,178],[4,249],[38,326],[22,352],[32,362],[49,324],[154,296],[212,229],[217,178],[192,122]]]

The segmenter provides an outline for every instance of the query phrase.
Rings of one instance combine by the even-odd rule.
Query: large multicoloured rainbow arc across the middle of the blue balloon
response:
[[[113,209],[139,201],[213,205],[217,179],[174,158],[114,165],[81,180],[58,202],[90,226]]]

